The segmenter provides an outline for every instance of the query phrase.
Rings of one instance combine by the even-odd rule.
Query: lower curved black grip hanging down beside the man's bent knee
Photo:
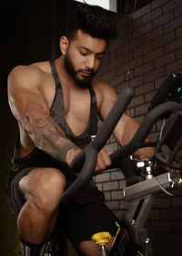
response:
[[[86,185],[89,179],[93,176],[93,171],[96,166],[96,149],[86,148],[85,150],[85,163],[83,168],[76,177],[74,183],[66,189],[62,195],[60,202],[61,204],[67,204],[70,200],[73,200],[76,197],[76,193],[81,190],[82,187]]]

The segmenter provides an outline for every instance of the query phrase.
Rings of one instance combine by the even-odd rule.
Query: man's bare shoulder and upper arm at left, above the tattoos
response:
[[[15,68],[8,77],[8,101],[15,118],[21,122],[27,115],[35,118],[49,112],[44,95],[39,89],[40,78],[28,67]]]

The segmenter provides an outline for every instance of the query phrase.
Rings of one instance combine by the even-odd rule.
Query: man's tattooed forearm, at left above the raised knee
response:
[[[66,138],[65,133],[50,116],[33,120],[29,136],[37,148],[59,161],[65,162],[67,152],[73,148],[77,149],[76,144]]]

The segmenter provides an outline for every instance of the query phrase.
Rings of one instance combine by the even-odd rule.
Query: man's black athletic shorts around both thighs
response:
[[[18,174],[11,173],[7,185],[8,204],[12,213],[18,215],[25,204],[25,197],[19,189],[20,179],[27,175],[35,167],[26,168]],[[101,192],[99,192],[101,193]],[[82,240],[91,240],[96,232],[108,231],[112,236],[116,235],[116,216],[106,207],[104,196],[97,197],[90,203],[71,203],[60,206],[56,228],[64,230],[66,237],[77,248]]]

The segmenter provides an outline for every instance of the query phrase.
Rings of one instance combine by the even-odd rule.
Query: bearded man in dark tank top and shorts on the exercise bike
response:
[[[101,7],[77,6],[72,29],[60,39],[61,57],[15,67],[8,77],[9,104],[19,136],[7,195],[18,216],[23,256],[45,255],[60,213],[60,229],[84,255],[97,255],[98,248],[91,240],[94,233],[108,230],[112,236],[116,234],[116,217],[106,208],[93,181],[73,203],[59,204],[75,179],[72,159],[96,134],[97,113],[106,119],[117,98],[109,85],[92,80],[109,38],[116,35],[113,19]],[[118,144],[127,144],[137,128],[138,123],[125,113],[114,131]],[[144,152],[141,149],[136,155],[153,155],[152,149]],[[109,153],[102,149],[96,174],[110,164]]]

